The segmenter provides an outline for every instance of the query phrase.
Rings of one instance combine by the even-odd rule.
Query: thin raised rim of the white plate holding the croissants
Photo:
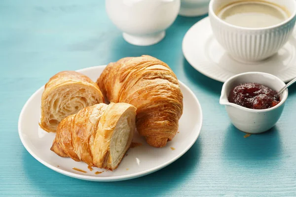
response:
[[[86,68],[82,68],[82,69],[78,69],[76,70],[77,72],[81,72],[81,71],[85,71],[85,70],[88,70],[88,69],[95,69],[95,68],[98,68],[98,67],[106,67],[106,65],[102,65],[102,66],[91,66],[91,67],[86,67]],[[201,131],[201,128],[202,128],[202,123],[203,123],[203,115],[202,115],[202,108],[201,108],[201,105],[200,105],[200,102],[199,100],[196,98],[196,96],[194,95],[194,93],[183,83],[179,80],[179,82],[183,85],[183,87],[193,96],[193,98],[195,99],[196,101],[196,104],[197,106],[199,107],[199,113],[200,113],[200,117],[199,117],[199,120],[198,122],[200,122],[199,124],[199,127],[196,129],[197,131],[197,134],[196,134],[196,137],[195,139],[189,144],[188,147],[186,147],[184,149],[184,151],[182,151],[179,155],[177,155],[176,157],[172,158],[171,160],[169,160],[168,162],[164,163],[164,164],[161,164],[159,166],[156,166],[154,168],[151,168],[151,169],[148,169],[148,170],[145,170],[145,171],[142,171],[142,172],[137,172],[137,173],[133,173],[133,174],[127,174],[127,175],[121,175],[121,176],[113,176],[113,177],[95,177],[95,176],[87,176],[87,175],[81,175],[81,174],[75,174],[73,172],[68,172],[66,170],[63,170],[63,169],[60,169],[58,167],[55,167],[51,164],[48,164],[47,162],[44,162],[42,159],[40,159],[39,157],[37,157],[37,155],[29,148],[28,144],[26,143],[26,140],[24,139],[23,135],[22,135],[22,130],[21,130],[21,123],[23,122],[23,114],[24,114],[24,111],[27,107],[27,105],[29,104],[29,102],[35,97],[35,95],[41,90],[44,88],[44,85],[42,87],[40,87],[39,89],[37,89],[37,91],[34,92],[33,95],[31,95],[31,97],[26,101],[25,105],[22,107],[22,110],[21,110],[21,113],[19,115],[19,119],[18,119],[18,134],[19,134],[19,137],[21,139],[21,142],[23,144],[23,146],[25,147],[25,149],[38,161],[40,162],[41,164],[45,165],[46,167],[56,171],[56,172],[59,172],[61,174],[64,174],[66,176],[70,176],[70,177],[73,177],[73,178],[77,178],[77,179],[82,179],[82,180],[88,180],[88,181],[100,181],[100,182],[111,182],[111,181],[123,181],[123,180],[129,180],[129,179],[134,179],[134,178],[138,178],[138,177],[141,177],[141,176],[145,176],[145,175],[148,175],[150,173],[153,173],[157,170],[160,170],[164,167],[166,167],[167,165],[169,164],[172,164],[173,162],[175,162],[176,160],[178,160],[180,157],[182,157],[192,146],[193,144],[196,142],[199,134],[200,134],[200,131]]]

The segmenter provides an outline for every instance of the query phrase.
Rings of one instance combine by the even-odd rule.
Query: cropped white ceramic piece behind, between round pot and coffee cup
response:
[[[179,15],[193,17],[201,16],[209,11],[210,0],[181,0]]]

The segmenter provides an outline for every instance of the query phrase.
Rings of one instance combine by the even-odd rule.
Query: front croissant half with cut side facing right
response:
[[[90,166],[115,169],[132,142],[136,110],[128,103],[85,107],[62,120],[50,150]]]

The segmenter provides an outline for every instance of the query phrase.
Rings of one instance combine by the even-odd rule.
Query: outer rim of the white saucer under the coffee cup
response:
[[[224,79],[223,77],[219,77],[219,76],[211,75],[211,74],[207,73],[206,71],[204,71],[201,67],[195,66],[195,64],[192,64],[192,61],[190,60],[190,58],[188,58],[188,55],[185,53],[185,38],[186,38],[186,36],[189,34],[190,31],[192,31],[192,29],[195,28],[195,26],[197,26],[199,23],[204,22],[204,21],[206,21],[206,20],[209,20],[209,21],[210,21],[209,16],[207,16],[207,17],[205,17],[205,18],[203,18],[203,19],[197,21],[194,25],[192,25],[192,26],[188,29],[188,31],[185,33],[185,35],[184,35],[184,37],[183,37],[183,41],[182,41],[182,52],[183,52],[183,55],[184,55],[186,61],[187,61],[187,62],[190,64],[190,66],[192,66],[195,70],[197,70],[198,72],[202,73],[203,75],[205,75],[205,76],[207,76],[207,77],[209,77],[209,78],[211,78],[211,79],[214,79],[214,80],[216,80],[216,81],[220,81],[220,82],[224,83],[227,79]],[[220,69],[222,69],[222,68],[219,67],[219,66],[217,66],[217,67],[220,68]],[[237,74],[239,74],[239,73],[237,73]],[[234,75],[236,75],[236,73],[233,73],[232,76],[234,76]],[[285,79],[285,80],[283,80],[283,81],[284,81],[285,83],[287,83],[287,82],[291,81],[293,78],[294,78],[294,77],[290,77],[290,78],[287,78],[287,79]]]

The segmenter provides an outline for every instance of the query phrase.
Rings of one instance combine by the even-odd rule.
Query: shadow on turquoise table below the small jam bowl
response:
[[[226,131],[224,154],[230,160],[272,160],[281,155],[281,138],[277,127],[244,138],[246,133],[237,130],[232,124]],[[263,167],[263,166],[262,166]]]

